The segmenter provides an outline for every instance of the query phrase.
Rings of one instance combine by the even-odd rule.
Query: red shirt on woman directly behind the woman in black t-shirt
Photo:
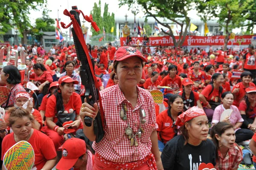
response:
[[[166,142],[168,142],[174,137],[175,135],[174,128],[176,128],[175,126],[172,127],[173,121],[170,118],[170,116],[168,116],[167,111],[168,109],[161,112],[157,116],[157,125],[158,125],[157,137],[158,137],[158,140],[162,141],[165,144]]]

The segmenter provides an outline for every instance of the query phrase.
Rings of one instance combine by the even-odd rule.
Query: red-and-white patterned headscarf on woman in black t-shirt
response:
[[[206,114],[203,109],[194,106],[178,116],[175,125],[183,126],[186,122],[198,116],[206,116]]]

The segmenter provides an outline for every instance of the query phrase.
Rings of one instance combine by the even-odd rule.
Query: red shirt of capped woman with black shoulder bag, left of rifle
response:
[[[82,101],[80,95],[76,92],[73,92],[73,94],[70,96],[70,100],[68,101],[68,103],[64,104],[64,109],[68,113],[73,113],[75,111],[76,115],[79,115],[81,105]],[[53,117],[54,123],[58,121],[55,95],[50,96],[47,101],[45,117]],[[82,122],[80,123],[79,128],[83,128]]]

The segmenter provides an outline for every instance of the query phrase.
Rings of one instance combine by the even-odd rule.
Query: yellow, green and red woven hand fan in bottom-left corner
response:
[[[6,170],[31,170],[34,162],[33,147],[26,141],[17,142],[3,156],[3,166]]]

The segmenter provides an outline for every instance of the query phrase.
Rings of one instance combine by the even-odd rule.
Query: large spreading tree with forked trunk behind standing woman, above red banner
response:
[[[201,0],[119,0],[119,6],[127,4],[130,8],[142,6],[146,17],[153,17],[157,23],[169,29],[168,32],[162,31],[172,37],[175,47],[181,46],[185,41],[185,36],[190,23],[188,11],[195,9]],[[176,41],[171,26],[160,22],[157,17],[171,20],[173,23],[180,25],[181,30],[179,39]],[[183,36],[184,35],[184,36]]]

